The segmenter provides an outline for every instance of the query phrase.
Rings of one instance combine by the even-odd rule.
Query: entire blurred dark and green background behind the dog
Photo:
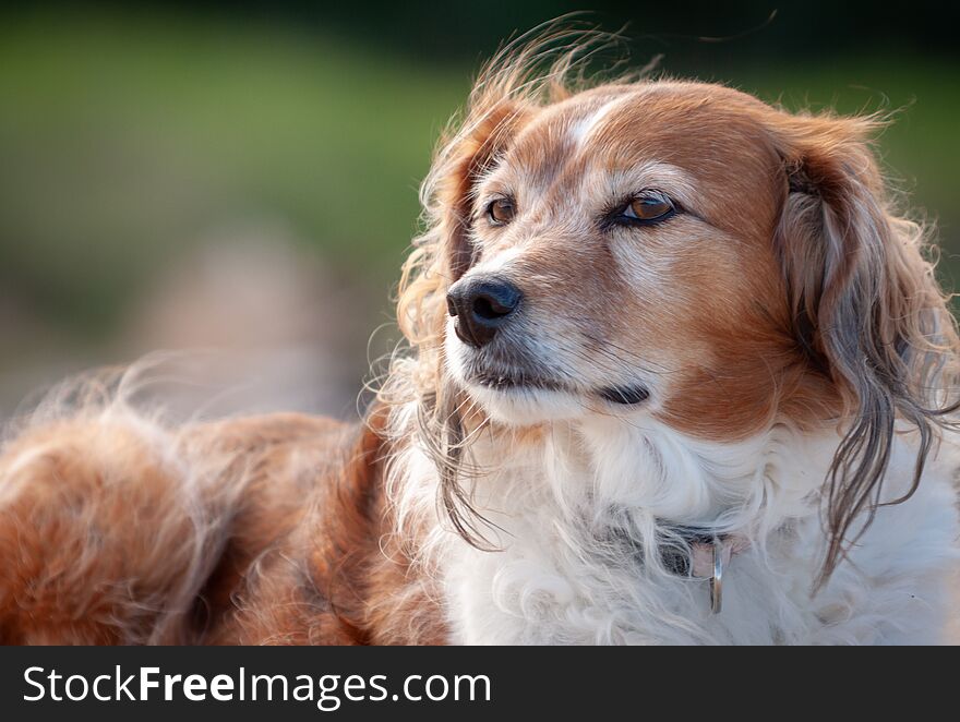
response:
[[[720,7],[722,5],[722,7]],[[154,348],[256,357],[275,406],[345,412],[387,348],[416,189],[471,74],[583,4],[43,3],[0,11],[0,414]],[[790,108],[897,110],[890,176],[960,252],[957,11],[600,2],[636,64]],[[773,15],[776,11],[775,16]],[[371,351],[371,349],[373,349]]]

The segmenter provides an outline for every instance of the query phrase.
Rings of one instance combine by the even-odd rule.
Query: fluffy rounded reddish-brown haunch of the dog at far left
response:
[[[0,508],[0,641],[148,640],[193,537],[171,470],[122,426],[41,429],[4,466],[20,454],[35,456]]]

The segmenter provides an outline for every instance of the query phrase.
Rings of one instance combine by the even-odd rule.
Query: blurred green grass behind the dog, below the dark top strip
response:
[[[206,233],[265,220],[386,298],[416,227],[417,183],[472,70],[221,17],[10,15],[0,288],[77,336],[107,335],[158,266]],[[792,108],[904,108],[880,146],[939,218],[952,276],[958,71],[876,56],[699,75]]]

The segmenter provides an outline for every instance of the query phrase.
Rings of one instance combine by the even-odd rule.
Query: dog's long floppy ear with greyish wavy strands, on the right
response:
[[[956,410],[958,340],[923,257],[923,229],[897,217],[863,119],[779,121],[785,204],[777,233],[796,340],[839,392],[842,442],[826,486],[826,580],[878,505],[909,498],[937,426]],[[917,432],[910,488],[883,495],[895,425]],[[896,495],[895,495],[896,496]]]

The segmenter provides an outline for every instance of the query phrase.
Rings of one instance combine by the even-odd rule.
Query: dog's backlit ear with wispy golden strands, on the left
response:
[[[517,80],[515,74],[481,80],[459,130],[442,139],[421,189],[427,229],[413,241],[404,265],[397,302],[400,329],[417,350],[410,376],[419,401],[420,438],[440,472],[439,502],[460,536],[482,547],[489,547],[480,531],[482,517],[459,483],[465,400],[459,389],[444,383],[443,332],[446,291],[475,261],[471,215],[477,185],[533,112],[529,100],[513,97]]]

